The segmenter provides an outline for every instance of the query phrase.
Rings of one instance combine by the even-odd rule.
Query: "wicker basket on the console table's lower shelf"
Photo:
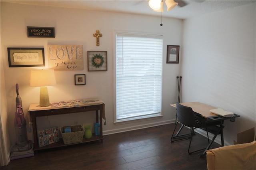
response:
[[[64,144],[72,144],[82,142],[84,137],[84,129],[82,125],[76,125],[71,127],[71,132],[64,133],[64,127],[60,128],[62,139]]]

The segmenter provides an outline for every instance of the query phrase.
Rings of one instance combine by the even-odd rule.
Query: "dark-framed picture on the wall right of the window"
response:
[[[180,45],[167,45],[166,63],[179,63]]]

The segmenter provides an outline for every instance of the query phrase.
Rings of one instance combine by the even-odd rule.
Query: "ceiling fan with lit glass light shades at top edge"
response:
[[[167,11],[172,10],[177,5],[180,7],[186,6],[183,0],[149,0],[148,5],[156,12],[164,12],[164,1],[167,6]]]

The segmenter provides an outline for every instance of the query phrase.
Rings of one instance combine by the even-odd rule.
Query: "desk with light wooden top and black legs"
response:
[[[194,113],[197,113],[197,115],[204,117],[206,119],[206,125],[207,125],[207,123],[210,125],[213,125],[212,123],[214,123],[214,125],[219,125],[222,146],[224,146],[224,136],[223,136],[224,120],[229,119],[230,121],[234,122],[236,117],[240,117],[240,115],[236,115],[236,114],[234,114],[234,117],[222,117],[222,116],[216,115],[216,114],[210,112],[211,109],[216,109],[216,107],[212,107],[210,105],[206,105],[206,104],[200,103],[200,102],[190,102],[190,103],[180,103],[180,104],[183,106],[191,107],[192,110],[194,111]],[[176,108],[176,103],[171,104],[171,106]],[[183,128],[183,126],[184,125],[182,125],[181,128]],[[180,130],[181,130],[181,128],[180,128]],[[178,131],[178,133],[180,133],[180,130]],[[178,136],[178,133],[176,134],[175,137]],[[210,148],[210,146],[212,145],[212,142],[215,140],[216,136],[218,136],[218,134],[214,134],[212,141],[208,144],[208,146],[204,150],[203,154],[200,154],[199,156],[203,156],[206,154],[206,150],[208,150]],[[171,139],[171,141],[172,141],[172,139]]]

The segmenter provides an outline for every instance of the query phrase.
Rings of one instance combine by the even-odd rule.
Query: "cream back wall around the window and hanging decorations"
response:
[[[11,144],[16,142],[14,132],[15,113],[15,85],[19,84],[20,97],[24,108],[24,115],[29,122],[28,107],[32,103],[39,103],[39,87],[30,87],[30,70],[43,69],[48,66],[48,44],[78,44],[83,45],[84,70],[55,71],[57,85],[48,87],[50,102],[86,99],[98,97],[106,104],[107,125],[103,126],[103,134],[121,132],[142,127],[150,127],[173,122],[175,109],[171,103],[177,101],[176,76],[179,75],[180,64],[166,64],[167,45],[181,45],[182,20],[164,18],[160,26],[159,17],[114,12],[99,12],[69,8],[55,8],[46,6],[30,6],[1,2],[1,57],[4,70],[4,84],[7,104],[6,130]],[[28,38],[27,26],[54,27],[55,38]],[[100,46],[96,46],[92,36],[100,30]],[[114,30],[128,30],[136,32],[158,33],[164,35],[163,53],[163,96],[162,114],[160,119],[140,121],[124,125],[114,125],[114,66],[113,49]],[[8,67],[7,47],[44,47],[46,67]],[[182,49],[182,47],[181,47]],[[87,51],[108,51],[108,71],[87,71]],[[182,53],[180,52],[180,56]],[[86,85],[75,86],[74,74],[86,74]],[[1,74],[2,78],[2,74]],[[2,79],[1,79],[2,80]],[[3,90],[4,91],[4,90]],[[1,97],[2,97],[1,88]],[[94,114],[61,115],[41,117],[38,119],[38,128],[51,125],[73,125],[74,123],[93,123]],[[2,115],[1,115],[2,116]],[[28,133],[32,139],[32,133]]]

